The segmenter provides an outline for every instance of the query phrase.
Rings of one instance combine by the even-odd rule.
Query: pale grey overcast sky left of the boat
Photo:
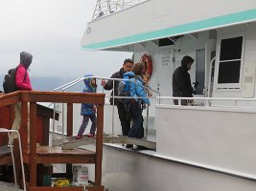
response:
[[[109,76],[131,53],[87,52],[81,37],[96,0],[0,0],[0,74],[34,55],[32,76]]]

